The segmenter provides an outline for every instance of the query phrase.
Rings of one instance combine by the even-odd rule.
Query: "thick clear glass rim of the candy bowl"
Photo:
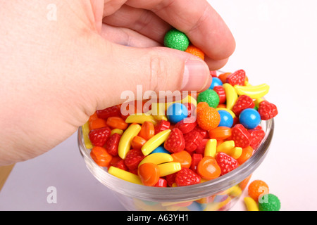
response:
[[[263,126],[265,124],[265,127]],[[239,184],[244,179],[247,179],[256,168],[261,165],[268,149],[271,145],[274,133],[274,120],[261,121],[261,126],[265,131],[265,136],[260,144],[259,148],[254,150],[254,154],[251,155],[246,162],[232,170],[228,174],[219,176],[216,179],[205,181],[200,184],[194,184],[191,186],[181,187],[150,187],[139,184],[133,184],[123,179],[119,179],[112,174],[108,174],[107,169],[99,167],[92,158],[90,158],[90,150],[86,148],[84,139],[82,136],[82,127],[77,130],[77,143],[80,149],[80,154],[84,158],[87,168],[90,172],[106,187],[110,188],[116,193],[127,195],[131,198],[139,198],[142,200],[154,201],[154,202],[179,202],[187,200],[197,200],[205,198],[210,195],[216,195],[221,193],[232,186]]]

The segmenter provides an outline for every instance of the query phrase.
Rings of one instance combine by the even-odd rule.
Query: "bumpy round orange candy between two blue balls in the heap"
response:
[[[207,131],[215,129],[220,123],[220,114],[218,110],[212,107],[202,108],[197,113],[197,124]]]

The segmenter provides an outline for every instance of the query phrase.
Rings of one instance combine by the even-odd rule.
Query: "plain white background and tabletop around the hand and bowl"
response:
[[[271,149],[251,181],[266,181],[281,210],[317,210],[317,1],[209,2],[237,42],[222,70],[244,69],[251,84],[269,84],[266,98],[279,110]],[[49,186],[56,187],[56,204],[46,201]],[[15,165],[0,192],[0,210],[125,209],[88,172],[74,134],[49,153]],[[232,210],[246,210],[242,198]]]

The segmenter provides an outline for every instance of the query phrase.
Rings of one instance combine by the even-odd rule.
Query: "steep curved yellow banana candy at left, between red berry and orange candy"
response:
[[[118,155],[123,160],[125,156],[127,156],[128,151],[131,147],[132,139],[139,134],[141,130],[141,126],[139,124],[131,124],[123,133],[120,138],[119,145],[118,145]]]

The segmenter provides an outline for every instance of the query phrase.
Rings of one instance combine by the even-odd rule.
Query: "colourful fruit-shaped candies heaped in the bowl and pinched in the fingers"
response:
[[[164,42],[204,58],[182,32],[168,32]],[[156,187],[199,184],[242,165],[265,136],[261,120],[278,110],[263,100],[269,86],[251,86],[244,70],[211,76],[206,91],[151,103],[147,112],[122,115],[121,105],[98,110],[82,127],[91,158],[113,176]]]

